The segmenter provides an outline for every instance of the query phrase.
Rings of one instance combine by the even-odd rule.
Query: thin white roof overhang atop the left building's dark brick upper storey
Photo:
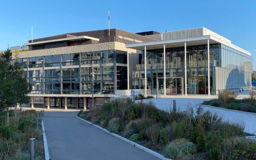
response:
[[[31,42],[31,43],[25,43],[25,46],[35,46],[40,44],[46,44],[46,43],[52,43],[52,42],[60,42],[60,41],[76,41],[76,40],[96,40],[99,41],[99,38],[89,37],[89,36],[75,36],[71,38],[60,38],[55,40],[43,40],[39,42]]]

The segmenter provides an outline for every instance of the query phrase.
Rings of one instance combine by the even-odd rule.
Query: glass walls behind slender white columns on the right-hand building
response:
[[[164,84],[164,50],[147,50],[146,77],[144,71],[144,51],[142,51],[140,56],[141,64],[137,64],[136,70],[132,72],[133,89],[144,89],[146,86],[152,94],[156,94],[157,91],[163,94],[164,85],[166,85],[166,94],[184,93],[184,54],[184,47],[166,48],[166,84]],[[221,89],[250,87],[250,76],[252,74],[251,56],[222,44],[210,44],[209,56],[211,94],[216,94]],[[207,45],[188,46],[186,48],[186,83],[188,94],[208,94],[207,62]],[[226,79],[222,78],[224,74]],[[241,76],[242,80],[238,76]],[[223,83],[222,81],[225,82]]]

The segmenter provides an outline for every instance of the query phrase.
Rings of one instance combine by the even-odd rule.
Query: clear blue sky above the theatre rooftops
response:
[[[165,32],[206,27],[248,50],[256,59],[255,0],[3,0],[0,50],[33,38],[119,28]],[[254,64],[256,70],[256,64]]]

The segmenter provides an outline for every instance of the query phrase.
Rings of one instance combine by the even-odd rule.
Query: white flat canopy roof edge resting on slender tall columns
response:
[[[196,46],[196,45],[207,44],[208,39],[210,44],[216,44],[216,43],[224,44],[226,46],[229,46],[231,48],[234,48],[240,52],[243,52],[251,56],[250,52],[238,46],[235,46],[234,44],[230,44],[223,40],[220,40],[212,35],[192,37],[192,38],[180,38],[180,39],[174,39],[174,40],[158,40],[158,41],[151,41],[151,42],[132,43],[132,44],[126,44],[126,48],[131,48],[135,50],[144,50],[144,47],[146,46],[147,50],[153,50],[153,49],[164,48],[164,44],[166,48],[176,48],[176,47],[184,47],[184,42],[186,42],[186,46]]]

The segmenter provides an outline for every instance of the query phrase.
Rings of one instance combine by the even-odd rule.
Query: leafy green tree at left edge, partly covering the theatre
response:
[[[23,75],[23,66],[12,61],[10,49],[0,54],[0,112],[29,102],[29,83]]]

